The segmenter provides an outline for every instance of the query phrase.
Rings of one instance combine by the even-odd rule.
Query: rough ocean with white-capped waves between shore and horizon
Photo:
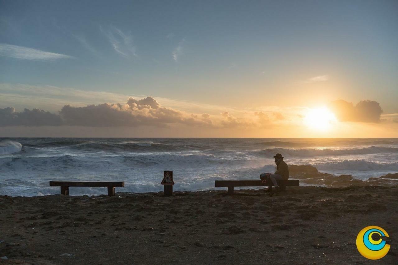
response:
[[[174,190],[212,190],[218,179],[274,172],[276,153],[361,180],[398,172],[398,138],[0,138],[0,195],[59,194],[51,180],[125,181],[116,191],[157,192],[164,170],[174,171]]]

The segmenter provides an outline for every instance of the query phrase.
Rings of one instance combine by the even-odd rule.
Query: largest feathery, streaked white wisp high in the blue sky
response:
[[[136,46],[134,45],[133,36],[130,32],[125,33],[116,27],[109,27],[104,29],[100,26],[101,32],[108,38],[113,49],[120,55],[126,58],[132,56],[137,57]]]

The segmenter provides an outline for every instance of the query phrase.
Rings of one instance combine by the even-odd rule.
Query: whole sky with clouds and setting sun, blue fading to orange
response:
[[[0,137],[398,137],[397,14],[0,0]]]

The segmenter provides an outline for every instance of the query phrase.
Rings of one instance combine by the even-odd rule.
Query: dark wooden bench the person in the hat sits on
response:
[[[298,186],[298,180],[277,180],[281,191],[285,191],[286,186]],[[268,180],[263,183],[261,179],[245,179],[245,180],[216,180],[216,187],[228,187],[228,194],[234,194],[234,187],[259,187],[268,186],[272,190],[272,182]]]

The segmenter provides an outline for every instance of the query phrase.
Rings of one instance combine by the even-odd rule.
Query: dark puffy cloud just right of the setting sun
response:
[[[376,101],[363,100],[357,105],[345,100],[332,101],[329,108],[334,112],[339,121],[358,121],[365,123],[380,122],[380,115],[383,110]]]

